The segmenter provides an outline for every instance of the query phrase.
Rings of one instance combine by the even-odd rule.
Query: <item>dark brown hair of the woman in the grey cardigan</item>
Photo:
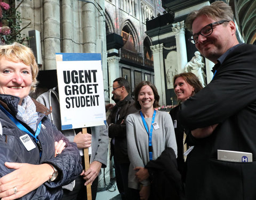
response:
[[[155,98],[155,101],[154,101],[154,103],[153,103],[153,107],[154,107],[154,108],[159,107],[158,102],[159,102],[160,97],[159,97],[159,94],[158,94],[158,92],[157,92],[156,86],[155,86],[153,83],[149,82],[149,81],[142,81],[142,82],[140,82],[140,83],[135,87],[135,89],[134,89],[134,96],[135,96],[135,99],[134,99],[134,100],[135,100],[135,103],[134,103],[134,105],[135,105],[135,107],[136,107],[138,110],[141,109],[140,103],[139,103],[139,101],[138,101],[138,97],[139,97],[139,93],[140,93],[141,88],[142,88],[143,86],[145,86],[145,85],[148,85],[148,86],[151,87],[151,89],[153,90],[154,98]]]

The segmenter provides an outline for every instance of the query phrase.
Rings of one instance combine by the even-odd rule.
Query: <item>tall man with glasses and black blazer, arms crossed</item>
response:
[[[215,63],[211,83],[179,112],[181,123],[192,130],[188,145],[194,146],[187,157],[189,200],[256,199],[256,46],[238,43],[233,19],[231,7],[217,1],[186,20],[191,42]],[[218,150],[239,153],[221,160]],[[244,152],[252,153],[254,162],[246,162],[250,156]]]

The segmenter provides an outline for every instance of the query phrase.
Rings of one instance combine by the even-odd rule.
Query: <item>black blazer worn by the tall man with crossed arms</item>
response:
[[[256,46],[242,44],[215,66],[204,89],[182,103],[181,123],[190,130],[219,124],[195,140],[187,157],[189,200],[256,199]],[[251,163],[219,161],[217,150],[250,152]]]

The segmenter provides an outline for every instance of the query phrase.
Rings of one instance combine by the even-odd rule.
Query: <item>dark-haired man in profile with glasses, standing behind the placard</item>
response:
[[[129,94],[130,83],[123,77],[113,82],[113,97],[116,105],[111,109],[107,123],[108,136],[111,138],[111,156],[114,156],[116,184],[122,199],[127,199],[128,172],[130,161],[127,154],[126,124],[127,115],[135,113],[134,100]],[[109,105],[106,108],[110,108]],[[128,200],[128,199],[127,199]]]

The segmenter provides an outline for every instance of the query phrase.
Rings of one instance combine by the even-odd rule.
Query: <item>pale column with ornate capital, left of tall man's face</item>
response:
[[[184,72],[185,65],[188,62],[184,25],[184,21],[172,24],[172,31],[174,31],[175,33],[175,40],[177,46],[178,73]]]

